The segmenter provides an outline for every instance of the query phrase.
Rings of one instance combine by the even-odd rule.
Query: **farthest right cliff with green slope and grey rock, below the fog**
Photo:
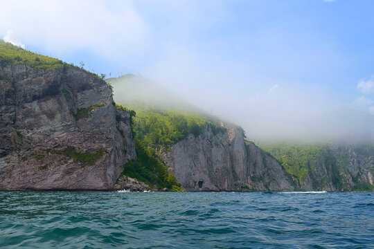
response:
[[[372,191],[373,145],[267,145],[300,190]]]

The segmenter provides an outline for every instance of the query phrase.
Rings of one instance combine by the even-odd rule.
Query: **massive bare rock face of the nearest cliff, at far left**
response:
[[[0,76],[0,189],[111,190],[136,153],[107,84],[67,65]]]

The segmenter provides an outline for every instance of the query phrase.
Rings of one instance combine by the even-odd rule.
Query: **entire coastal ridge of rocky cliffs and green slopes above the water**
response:
[[[2,190],[373,191],[370,145],[262,149],[144,77],[0,41],[0,92]]]

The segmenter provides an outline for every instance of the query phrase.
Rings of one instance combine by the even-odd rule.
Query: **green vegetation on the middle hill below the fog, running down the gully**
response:
[[[157,147],[168,147],[188,134],[199,136],[203,127],[208,125],[213,133],[226,131],[217,121],[208,120],[195,113],[180,111],[135,111],[115,104],[116,109],[130,112],[132,131],[136,138],[137,159],[124,166],[123,174],[136,178],[143,183],[170,191],[183,191],[175,176],[168,173],[168,167],[162,162]]]

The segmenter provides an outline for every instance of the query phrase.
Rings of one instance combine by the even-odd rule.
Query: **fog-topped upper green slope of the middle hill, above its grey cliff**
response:
[[[136,112],[133,131],[145,146],[172,145],[188,134],[199,136],[203,127],[213,133],[226,131],[219,120],[199,111],[154,84],[136,75],[107,79],[114,89],[114,100]]]

